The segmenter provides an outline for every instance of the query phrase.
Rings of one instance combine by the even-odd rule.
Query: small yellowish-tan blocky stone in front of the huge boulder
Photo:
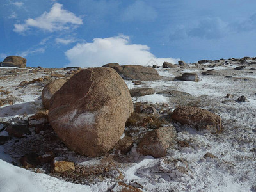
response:
[[[55,157],[52,163],[52,170],[59,173],[75,170],[75,163],[68,161],[63,157]]]

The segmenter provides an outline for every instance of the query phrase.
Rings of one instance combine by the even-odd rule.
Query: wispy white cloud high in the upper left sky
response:
[[[54,32],[70,29],[83,24],[83,20],[76,17],[74,13],[63,10],[62,4],[54,3],[50,12],[44,12],[35,19],[26,19],[24,24],[15,24],[13,31],[17,33],[24,32],[30,27],[42,29],[44,31]]]

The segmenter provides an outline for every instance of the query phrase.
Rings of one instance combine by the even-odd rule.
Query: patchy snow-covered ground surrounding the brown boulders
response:
[[[210,65],[209,65],[210,66]],[[205,70],[211,69],[208,64]],[[142,156],[136,152],[136,145],[126,155],[118,155],[118,173],[116,177],[97,177],[86,184],[67,182],[51,177],[49,173],[35,173],[35,170],[25,170],[12,164],[17,157],[10,152],[15,140],[0,145],[0,191],[108,191],[113,189],[116,182],[121,181],[142,191],[256,191],[256,75],[255,66],[250,65],[243,71],[235,71],[239,65],[223,65],[214,67],[219,72],[214,76],[202,76],[205,71],[198,67],[157,69],[164,76],[161,81],[143,82],[135,86],[132,81],[125,81],[131,88],[154,88],[153,95],[133,97],[133,102],[148,104],[168,104],[172,111],[179,104],[196,105],[220,115],[224,131],[221,134],[200,133],[186,126],[173,124],[177,127],[177,140],[186,141],[189,147],[177,145],[168,150],[166,157],[154,159]],[[31,81],[38,77],[49,76],[49,72],[28,73],[28,69],[0,68],[1,90],[10,91],[10,95],[18,97],[13,105],[0,108],[0,122],[12,122],[13,118],[25,119],[42,108],[40,95],[46,82],[29,84],[19,87],[21,81]],[[25,72],[26,71],[26,72]],[[54,73],[63,70],[55,70]],[[173,77],[183,72],[196,72],[201,79],[199,82],[174,81]],[[251,72],[251,73],[248,73]],[[232,78],[225,78],[232,76]],[[246,77],[247,80],[244,80]],[[189,97],[172,98],[157,94],[163,90],[178,90],[191,94]],[[227,93],[234,95],[233,99],[224,98]],[[244,95],[249,102],[240,103],[236,99]],[[6,95],[1,95],[4,98]],[[227,101],[223,103],[222,101]],[[168,126],[167,123],[164,126]],[[134,130],[143,128],[134,127]],[[6,131],[0,135],[6,136]],[[36,134],[32,134],[31,138]],[[22,138],[20,143],[28,141]],[[33,145],[33,144],[31,144]],[[16,148],[19,150],[19,147]],[[106,157],[87,158],[74,154],[68,149],[69,159],[79,166],[86,168],[99,165]],[[205,157],[210,153],[212,157]],[[16,154],[19,156],[19,154]],[[111,160],[116,163],[117,160]],[[113,171],[116,171],[113,168]],[[32,171],[32,172],[31,172]]]

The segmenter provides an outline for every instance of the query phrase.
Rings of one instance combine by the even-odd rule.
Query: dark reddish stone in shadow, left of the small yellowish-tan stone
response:
[[[24,168],[36,168],[40,164],[40,161],[38,159],[38,154],[31,152],[29,154],[25,154],[20,158],[20,163]]]

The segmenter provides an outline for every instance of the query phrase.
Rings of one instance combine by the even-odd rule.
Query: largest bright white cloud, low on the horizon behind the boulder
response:
[[[100,67],[106,63],[120,65],[147,65],[154,60],[158,65],[163,61],[177,63],[179,59],[157,58],[147,45],[129,44],[129,37],[115,36],[95,38],[92,43],[79,43],[65,52],[69,65],[80,67]]]

